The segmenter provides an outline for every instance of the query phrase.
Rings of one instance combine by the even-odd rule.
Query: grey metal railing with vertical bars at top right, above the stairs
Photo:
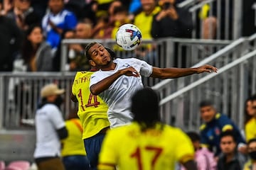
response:
[[[240,0],[204,0],[191,1],[187,0],[179,4],[180,7],[191,6],[189,11],[192,15],[194,29],[192,38],[203,38],[203,22],[206,18],[199,17],[203,6],[208,6],[207,18],[214,17],[216,20],[216,30],[209,23],[209,33],[215,31],[215,39],[236,40],[241,36],[242,25],[242,1]],[[209,35],[210,37],[211,35]]]

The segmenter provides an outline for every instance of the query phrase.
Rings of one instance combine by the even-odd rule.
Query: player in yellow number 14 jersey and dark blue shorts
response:
[[[87,158],[96,169],[98,155],[105,132],[110,127],[107,119],[107,104],[99,96],[90,93],[90,77],[94,72],[77,72],[72,86],[72,101],[78,102],[78,117],[82,123]]]

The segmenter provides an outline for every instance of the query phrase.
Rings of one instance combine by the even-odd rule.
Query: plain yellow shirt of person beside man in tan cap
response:
[[[65,127],[68,130],[68,137],[61,140],[61,156],[86,155],[80,120],[78,118],[66,120]]]

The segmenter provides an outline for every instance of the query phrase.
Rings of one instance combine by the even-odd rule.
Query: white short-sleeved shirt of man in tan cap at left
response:
[[[65,127],[59,108],[46,104],[36,111],[36,150],[34,158],[60,156],[60,140],[57,130]]]

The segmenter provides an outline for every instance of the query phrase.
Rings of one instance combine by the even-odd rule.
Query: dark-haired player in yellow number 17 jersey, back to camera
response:
[[[194,149],[188,136],[178,128],[160,122],[159,96],[150,88],[132,96],[131,124],[107,132],[100,152],[99,170],[165,170],[180,162],[196,169]]]

